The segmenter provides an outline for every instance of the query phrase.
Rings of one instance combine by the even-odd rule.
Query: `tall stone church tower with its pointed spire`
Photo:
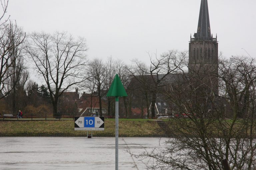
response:
[[[194,38],[190,36],[188,67],[190,75],[200,72],[206,79],[218,74],[217,34],[216,38],[211,34],[207,0],[201,0],[197,33]],[[215,86],[214,93],[218,93],[218,81],[212,83]]]

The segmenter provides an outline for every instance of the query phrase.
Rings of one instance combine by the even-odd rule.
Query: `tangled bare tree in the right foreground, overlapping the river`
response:
[[[137,156],[152,170],[221,170],[223,159],[232,170],[254,170],[255,69],[255,59],[237,57],[220,60],[219,74],[204,67],[204,72],[173,75],[166,91],[160,92],[180,112],[168,126],[175,138],[167,140],[163,149]],[[219,79],[219,96],[213,92],[214,78]]]

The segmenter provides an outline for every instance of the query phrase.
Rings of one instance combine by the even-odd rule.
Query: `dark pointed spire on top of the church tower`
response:
[[[211,38],[211,27],[210,27],[207,0],[201,0],[201,7],[200,7],[197,34],[196,34],[196,38],[203,38],[203,37]]]

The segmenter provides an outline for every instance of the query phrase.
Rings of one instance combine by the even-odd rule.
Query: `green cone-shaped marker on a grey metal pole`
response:
[[[116,165],[115,165],[115,170],[118,170],[118,100],[120,96],[128,96],[124,86],[118,77],[118,75],[115,76],[109,90],[107,93],[107,97],[110,96],[115,96],[116,97]]]

